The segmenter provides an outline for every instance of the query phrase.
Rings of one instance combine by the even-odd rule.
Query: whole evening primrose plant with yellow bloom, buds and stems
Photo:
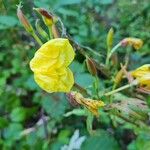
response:
[[[25,27],[26,31],[32,35],[32,37],[39,44],[39,49],[35,52],[33,58],[30,60],[30,68],[34,74],[35,82],[43,89],[44,91],[51,93],[63,92],[66,93],[69,101],[74,106],[82,106],[84,109],[74,109],[71,112],[67,112],[67,116],[70,115],[79,115],[86,116],[86,124],[89,133],[93,134],[93,121],[94,116],[98,119],[101,117],[101,113],[108,113],[108,115],[116,115],[121,119],[129,122],[132,122],[132,117],[126,117],[123,114],[112,113],[112,110],[123,109],[130,110],[131,108],[124,109],[128,107],[126,103],[114,104],[115,98],[113,95],[124,91],[130,87],[135,90],[142,89],[141,91],[146,94],[150,93],[150,64],[145,64],[135,70],[127,71],[128,61],[125,62],[125,65],[121,65],[121,70],[117,72],[117,75],[111,72],[112,67],[112,56],[116,51],[119,51],[121,47],[132,46],[134,49],[140,49],[143,45],[143,41],[138,38],[127,37],[121,40],[118,44],[113,46],[114,39],[114,30],[110,29],[107,35],[107,53],[105,64],[103,63],[103,68],[110,72],[112,78],[115,78],[110,88],[105,87],[103,91],[100,91],[101,88],[99,83],[101,83],[101,79],[99,76],[99,70],[101,70],[101,66],[99,62],[91,57],[91,53],[93,55],[97,55],[98,57],[101,54],[97,54],[94,50],[89,47],[81,46],[77,42],[75,42],[70,36],[67,35],[66,29],[61,21],[61,19],[52,13],[49,13],[47,10],[43,8],[34,8],[36,12],[38,12],[42,20],[44,21],[49,33],[46,33],[46,30],[43,30],[40,25],[36,26],[40,28],[40,37],[36,34],[36,30],[29,23],[28,19],[25,17],[23,12],[21,11],[21,5],[18,6],[17,15],[20,22]],[[57,24],[61,27],[61,30],[57,28]],[[42,37],[48,39],[47,41],[41,40]],[[47,36],[49,35],[49,36]],[[76,53],[80,53],[85,58],[85,64],[87,66],[87,70],[95,78],[93,89],[96,91],[96,94],[92,94],[92,91],[86,89],[86,87],[82,87],[76,83],[76,79],[74,78],[74,74],[70,69],[71,63],[75,59]],[[133,80],[127,83],[126,85],[122,85],[116,88],[121,84],[122,80],[131,77]],[[105,79],[104,79],[105,80]],[[144,88],[144,90],[143,90]],[[140,92],[141,92],[140,91]],[[128,98],[129,99],[129,98]],[[131,100],[131,99],[129,99]],[[140,104],[142,107],[141,100]],[[132,105],[137,105],[136,101],[133,101]],[[144,103],[145,105],[145,103]],[[102,108],[102,109],[100,109]],[[145,108],[143,107],[145,111]],[[128,111],[129,113],[135,110]],[[82,112],[82,113],[81,113]],[[136,113],[140,112],[138,107],[136,108]],[[69,114],[69,115],[68,115]],[[130,115],[130,114],[129,114]],[[111,117],[110,117],[111,118]],[[134,118],[135,119],[135,118]],[[143,119],[143,118],[142,118]],[[138,118],[137,118],[138,120]]]

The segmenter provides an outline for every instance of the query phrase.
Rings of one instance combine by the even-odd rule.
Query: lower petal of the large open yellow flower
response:
[[[62,68],[62,74],[51,70],[50,73],[35,73],[34,79],[37,84],[45,91],[52,92],[69,92],[74,84],[74,78],[69,68]]]

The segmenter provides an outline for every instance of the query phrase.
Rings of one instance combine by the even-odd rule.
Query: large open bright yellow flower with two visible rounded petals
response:
[[[69,92],[74,84],[68,68],[75,56],[68,39],[52,39],[41,46],[30,61],[35,81],[45,91]]]

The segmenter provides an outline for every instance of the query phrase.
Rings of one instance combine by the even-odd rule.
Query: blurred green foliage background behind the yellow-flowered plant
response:
[[[83,150],[149,150],[150,134],[128,124],[113,128],[105,114],[94,123],[97,135],[90,136],[84,116],[64,116],[73,109],[64,94],[47,94],[37,86],[29,61],[38,45],[16,16],[19,2],[0,0],[0,149],[65,150],[64,145],[71,143],[74,134],[72,145],[80,145],[81,137],[85,136],[80,147]],[[115,30],[114,45],[125,37],[141,38],[144,46],[139,51],[132,51],[129,68],[150,63],[149,0],[22,0],[22,5],[33,26],[39,16],[32,8],[46,8],[61,17],[75,41],[103,56],[106,56],[106,36],[111,27]],[[119,55],[124,53],[122,48]],[[103,63],[104,58],[98,61]],[[84,58],[77,55],[71,68],[76,82],[90,89],[93,79],[87,72]],[[40,125],[42,111],[47,116],[48,139],[45,138],[45,127]],[[21,136],[22,131],[28,128],[34,129]]]

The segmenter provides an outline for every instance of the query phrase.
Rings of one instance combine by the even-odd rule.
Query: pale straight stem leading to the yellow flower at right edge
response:
[[[115,94],[115,93],[117,93],[117,92],[119,92],[119,91],[122,91],[122,90],[127,89],[127,88],[132,87],[132,86],[135,86],[135,85],[137,85],[137,84],[138,84],[137,80],[134,80],[134,81],[133,81],[132,83],[130,83],[130,84],[127,84],[127,85],[122,86],[122,87],[120,87],[120,88],[118,88],[118,89],[116,89],[116,90],[113,90],[113,91],[110,91],[110,92],[108,92],[108,93],[105,93],[104,96],[109,96],[109,95]]]

